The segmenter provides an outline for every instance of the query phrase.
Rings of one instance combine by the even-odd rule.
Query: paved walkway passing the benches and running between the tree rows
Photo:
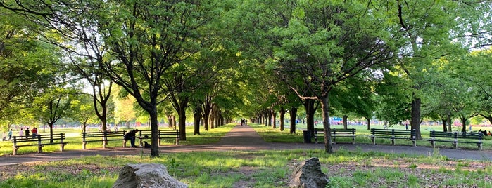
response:
[[[391,145],[367,145],[367,144],[340,144],[334,145],[334,150],[348,149],[360,151],[389,152],[396,154],[420,154],[432,155],[430,147],[391,146]],[[231,151],[231,150],[285,150],[285,149],[324,149],[322,144],[304,143],[271,143],[265,142],[253,128],[249,126],[236,126],[227,133],[220,142],[212,145],[166,145],[160,147],[160,152],[202,152],[202,151]],[[30,163],[36,161],[59,161],[78,158],[82,156],[122,156],[122,155],[149,155],[150,149],[142,148],[111,148],[111,149],[86,149],[70,150],[64,152],[51,152],[42,154],[20,154],[16,156],[0,156],[0,166]],[[439,154],[451,159],[472,159],[492,161],[492,151],[439,149]]]

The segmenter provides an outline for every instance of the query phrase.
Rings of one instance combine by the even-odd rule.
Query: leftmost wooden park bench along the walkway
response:
[[[51,142],[52,140],[52,142]],[[37,135],[34,137],[25,137],[25,136],[13,136],[13,155],[17,154],[17,150],[19,147],[27,147],[27,146],[37,146],[37,153],[43,152],[44,145],[60,145],[60,151],[63,152],[65,145],[67,142],[65,140],[65,133],[50,135]],[[19,145],[21,143],[21,145]]]

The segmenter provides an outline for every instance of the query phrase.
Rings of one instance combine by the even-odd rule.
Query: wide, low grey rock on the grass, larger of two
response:
[[[153,187],[188,187],[171,177],[168,169],[161,164],[139,163],[127,164],[120,171],[114,188],[153,188]]]

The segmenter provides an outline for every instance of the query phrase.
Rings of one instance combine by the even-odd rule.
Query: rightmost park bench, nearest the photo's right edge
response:
[[[458,149],[458,143],[476,144],[479,150],[482,149],[483,133],[448,133],[432,130],[428,139],[432,148],[436,147],[436,142],[451,142],[453,147]]]

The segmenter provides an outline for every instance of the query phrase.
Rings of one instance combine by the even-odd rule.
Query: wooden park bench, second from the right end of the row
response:
[[[413,146],[417,146],[417,143],[415,142],[416,135],[417,135],[417,131],[415,129],[398,130],[398,129],[371,128],[371,135],[369,137],[371,138],[373,145],[376,145],[376,138],[389,138],[391,140],[392,145],[395,145],[396,139],[402,139],[402,140],[412,140]]]

